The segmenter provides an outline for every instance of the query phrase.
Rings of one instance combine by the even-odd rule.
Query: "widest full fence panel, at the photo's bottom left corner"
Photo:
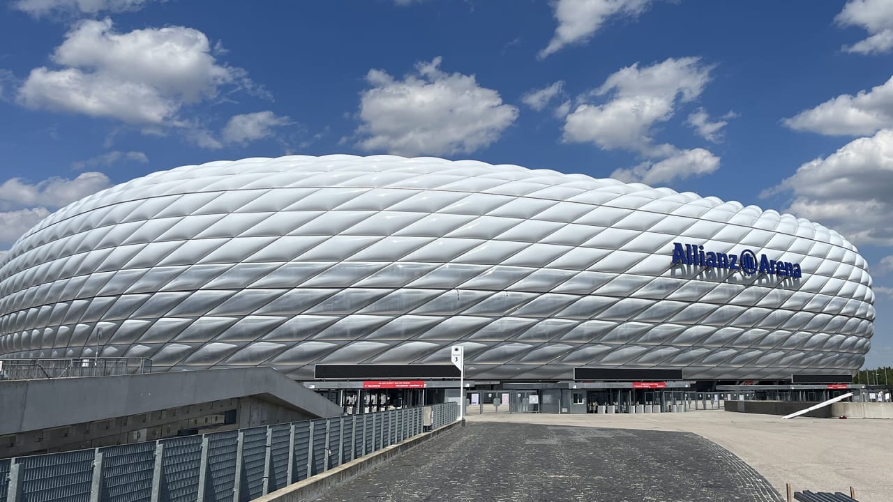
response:
[[[19,458],[22,469],[20,500],[88,502],[95,451],[87,449]]]

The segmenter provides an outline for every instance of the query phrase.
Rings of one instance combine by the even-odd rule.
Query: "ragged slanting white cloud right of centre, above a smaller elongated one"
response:
[[[700,96],[710,71],[697,57],[670,58],[644,68],[635,63],[616,71],[589,92],[613,93],[613,100],[579,105],[567,116],[564,141],[647,152],[652,148],[651,127],[672,117],[677,99],[687,102]]]

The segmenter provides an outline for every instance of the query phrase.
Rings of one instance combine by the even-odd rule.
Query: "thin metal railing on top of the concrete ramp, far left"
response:
[[[148,372],[152,372],[152,359],[146,357],[0,359],[0,380],[42,380]]]

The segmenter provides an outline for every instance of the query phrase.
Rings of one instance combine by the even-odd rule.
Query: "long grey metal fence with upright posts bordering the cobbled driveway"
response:
[[[432,408],[432,429],[458,416]],[[0,502],[247,501],[420,434],[422,409],[4,459]]]

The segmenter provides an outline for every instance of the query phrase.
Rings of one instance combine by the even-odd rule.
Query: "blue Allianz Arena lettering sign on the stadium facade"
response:
[[[707,268],[728,269],[740,271],[745,275],[755,273],[779,275],[783,277],[803,277],[800,264],[770,260],[769,256],[761,254],[759,258],[750,249],[741,251],[739,255],[734,253],[714,253],[705,251],[703,246],[697,244],[672,243],[672,265],[684,264]]]

